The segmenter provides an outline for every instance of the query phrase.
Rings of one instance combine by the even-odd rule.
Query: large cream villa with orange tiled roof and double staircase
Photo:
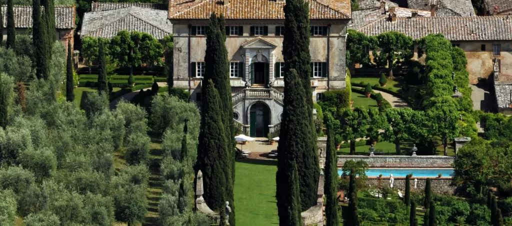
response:
[[[211,12],[226,18],[233,118],[251,137],[266,137],[283,111],[284,0],[170,0],[174,33],[174,85],[201,101]],[[345,88],[345,41],[350,0],[311,0],[310,54],[313,100]]]

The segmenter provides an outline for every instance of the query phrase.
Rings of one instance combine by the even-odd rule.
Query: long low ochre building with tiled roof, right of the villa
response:
[[[470,83],[493,74],[494,58],[501,74],[512,75],[512,18],[509,16],[387,17],[357,30],[373,36],[397,31],[414,40],[440,33],[466,53]],[[414,52],[417,56],[417,48]]]

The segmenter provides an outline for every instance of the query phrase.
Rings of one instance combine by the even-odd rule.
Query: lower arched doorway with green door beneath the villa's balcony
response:
[[[255,103],[249,110],[250,136],[264,138],[268,134],[270,125],[270,109],[264,103]]]

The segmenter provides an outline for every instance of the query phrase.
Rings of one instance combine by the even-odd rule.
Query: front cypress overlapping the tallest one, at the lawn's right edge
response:
[[[304,207],[300,166],[297,162],[300,150],[305,147],[309,133],[304,130],[308,120],[301,120],[307,114],[304,88],[295,70],[285,76],[284,109],[279,134],[278,172],[276,173],[276,194],[278,200],[279,225],[302,225],[301,212]],[[313,167],[313,166],[311,166]],[[296,192],[300,189],[300,192]],[[313,191],[317,191],[315,188]],[[300,194],[297,196],[297,194]],[[298,209],[297,209],[298,208]]]

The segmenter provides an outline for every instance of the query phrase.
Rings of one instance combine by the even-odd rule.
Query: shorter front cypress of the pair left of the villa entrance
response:
[[[224,209],[227,164],[226,137],[221,119],[220,97],[211,80],[204,82],[204,97],[196,171],[203,172],[204,199],[214,210]]]

